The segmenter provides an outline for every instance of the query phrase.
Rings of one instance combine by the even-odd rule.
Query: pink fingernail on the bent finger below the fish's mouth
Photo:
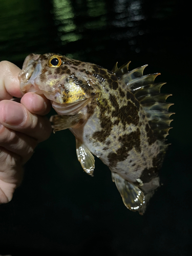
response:
[[[10,125],[18,125],[24,121],[25,112],[22,106],[14,101],[5,105],[4,121]]]

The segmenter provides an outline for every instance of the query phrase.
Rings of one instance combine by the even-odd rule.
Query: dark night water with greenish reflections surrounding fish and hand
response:
[[[20,68],[31,52],[55,52],[112,69],[132,60],[160,72],[176,112],[163,186],[144,216],[127,210],[108,167],[83,173],[69,131],[39,144],[23,184],[0,206],[0,253],[191,255],[191,32],[185,2],[0,1],[0,60]]]

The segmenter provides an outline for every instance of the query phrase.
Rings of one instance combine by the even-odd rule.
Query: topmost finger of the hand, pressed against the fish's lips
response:
[[[13,96],[21,98],[18,73],[20,69],[13,63],[3,60],[0,62],[0,100],[11,99]]]

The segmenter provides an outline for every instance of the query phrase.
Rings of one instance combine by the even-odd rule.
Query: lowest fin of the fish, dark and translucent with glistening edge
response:
[[[135,185],[123,179],[117,173],[112,173],[112,180],[122,197],[124,205],[130,210],[144,212],[145,197],[143,192]]]

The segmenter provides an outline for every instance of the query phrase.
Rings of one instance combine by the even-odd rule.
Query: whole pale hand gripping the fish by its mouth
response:
[[[50,101],[20,91],[19,72],[13,63],[0,62],[0,204],[11,201],[22,182],[23,165],[52,131],[44,117],[51,109]],[[11,100],[13,97],[21,98],[20,103]]]

